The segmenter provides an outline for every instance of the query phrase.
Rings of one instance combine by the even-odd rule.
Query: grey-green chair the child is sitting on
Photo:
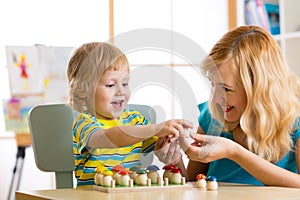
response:
[[[147,105],[130,104],[151,123],[155,110]],[[30,136],[37,167],[55,172],[56,188],[73,188],[74,155],[72,142],[73,111],[65,104],[34,106],[28,115]]]

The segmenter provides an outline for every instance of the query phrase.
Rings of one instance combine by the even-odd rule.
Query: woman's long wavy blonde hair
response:
[[[257,26],[241,26],[225,34],[203,61],[203,73],[226,62],[238,71],[246,92],[240,126],[249,150],[279,161],[293,148],[290,134],[300,114],[299,78],[290,72],[278,43]],[[212,116],[224,122],[220,106],[210,101],[209,107]],[[224,127],[232,124],[225,121]]]

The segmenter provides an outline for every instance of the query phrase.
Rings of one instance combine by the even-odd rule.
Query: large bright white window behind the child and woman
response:
[[[109,18],[109,2],[113,2],[113,19]],[[138,69],[151,66],[157,76],[166,73],[161,77],[165,82],[157,80],[151,83],[149,80],[142,86],[135,86],[133,77],[131,85],[134,91],[130,102],[149,104],[157,108],[156,111],[160,113],[158,121],[185,117],[183,109],[187,105],[180,91],[189,91],[186,96],[192,96],[192,103],[195,104],[208,97],[205,82],[197,71],[197,66],[203,54],[227,31],[227,18],[219,16],[227,16],[227,0],[2,1],[0,98],[10,96],[5,46],[79,46],[90,41],[108,41],[110,30],[119,37],[133,33],[134,30],[152,28],[167,31],[170,35],[165,38],[158,35],[156,45],[146,48],[138,44],[130,49],[132,43],[149,39],[147,34],[136,35],[131,41],[126,41],[125,44],[128,45],[124,48],[128,48],[128,51],[125,53],[133,73],[138,72],[138,76],[147,77],[149,74],[141,75]],[[180,35],[201,49],[199,63],[194,60],[191,62],[189,56],[181,52],[185,40],[178,40],[177,36]],[[164,42],[165,46],[162,48],[160,45]],[[117,41],[115,44],[119,45]],[[188,47],[188,54],[193,53],[194,47]],[[188,89],[182,88],[182,85]],[[1,117],[2,114],[0,123],[3,121]],[[4,129],[2,127],[1,125],[0,129]]]

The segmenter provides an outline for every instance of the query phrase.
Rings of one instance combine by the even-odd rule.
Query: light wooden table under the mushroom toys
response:
[[[188,183],[194,184],[194,183]],[[38,200],[38,199],[88,199],[88,200],[140,200],[140,199],[180,199],[180,200],[283,200],[300,199],[300,189],[283,187],[256,187],[247,185],[232,185],[219,183],[219,189],[210,191],[206,189],[192,188],[187,190],[150,190],[143,192],[121,192],[104,193],[96,190],[84,189],[57,189],[57,190],[35,190],[18,191],[17,200]]]

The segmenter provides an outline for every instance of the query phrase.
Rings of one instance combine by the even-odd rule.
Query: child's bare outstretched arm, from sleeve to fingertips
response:
[[[116,126],[100,129],[93,133],[88,140],[89,148],[118,148],[144,141],[153,136],[169,137],[174,140],[183,128],[192,128],[192,123],[172,119],[160,124],[147,126]]]

